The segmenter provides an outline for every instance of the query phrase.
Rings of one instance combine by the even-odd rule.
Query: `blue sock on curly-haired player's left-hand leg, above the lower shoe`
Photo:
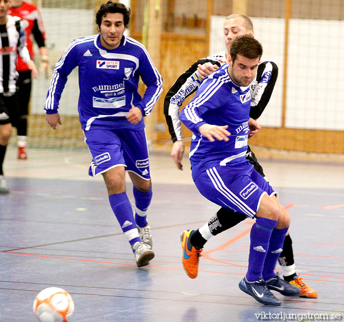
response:
[[[142,241],[136,228],[133,210],[125,192],[109,196],[112,210],[118,220],[123,233],[127,237],[130,245],[137,241]]]

